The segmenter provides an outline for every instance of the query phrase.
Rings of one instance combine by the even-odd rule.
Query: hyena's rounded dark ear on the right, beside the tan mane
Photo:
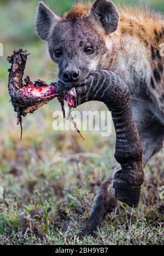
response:
[[[98,19],[101,22],[107,34],[114,32],[118,27],[119,15],[111,1],[96,0],[89,15],[92,19]]]

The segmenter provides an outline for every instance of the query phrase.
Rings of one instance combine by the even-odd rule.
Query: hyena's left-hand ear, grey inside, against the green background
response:
[[[59,18],[43,2],[39,2],[37,9],[36,28],[43,40],[49,40]]]

